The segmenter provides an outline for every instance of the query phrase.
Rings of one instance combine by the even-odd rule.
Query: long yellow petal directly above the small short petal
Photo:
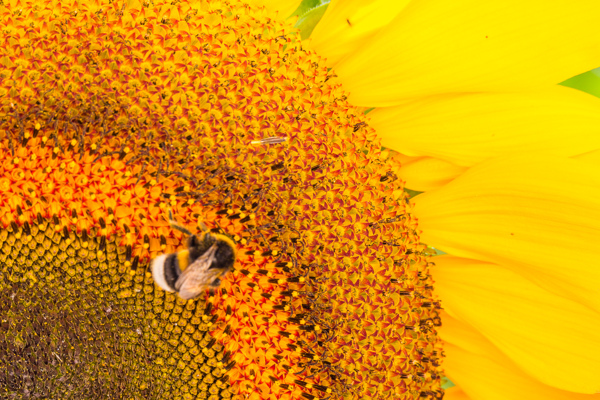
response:
[[[383,146],[464,167],[499,155],[570,157],[600,148],[600,98],[559,85],[436,95],[377,108],[369,117]]]

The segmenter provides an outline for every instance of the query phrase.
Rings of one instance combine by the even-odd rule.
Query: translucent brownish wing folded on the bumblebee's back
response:
[[[197,297],[223,273],[223,269],[210,268],[216,251],[217,245],[214,244],[179,275],[175,282],[179,297],[184,300]]]

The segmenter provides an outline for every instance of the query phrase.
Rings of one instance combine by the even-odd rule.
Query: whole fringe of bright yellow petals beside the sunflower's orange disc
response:
[[[425,192],[421,240],[447,253],[430,268],[446,398],[600,390],[600,100],[556,85],[600,65],[599,15],[589,1],[339,2],[312,32]]]

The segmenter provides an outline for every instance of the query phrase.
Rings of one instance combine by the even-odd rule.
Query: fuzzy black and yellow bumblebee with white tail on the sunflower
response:
[[[235,243],[224,234],[213,234],[203,226],[199,236],[179,225],[169,210],[171,227],[188,235],[187,248],[161,254],[152,260],[152,276],[166,291],[178,292],[182,299],[199,296],[206,288],[214,290],[221,277],[233,271],[236,260]]]

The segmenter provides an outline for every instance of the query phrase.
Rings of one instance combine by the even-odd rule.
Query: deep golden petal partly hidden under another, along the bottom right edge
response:
[[[594,395],[556,389],[530,378],[480,333],[448,314],[443,314],[443,326],[440,327],[439,332],[446,341],[444,369],[448,377],[471,399],[592,400],[598,398]],[[565,333],[565,336],[568,336],[568,333]],[[578,368],[572,371],[572,374],[577,375],[580,370]]]

